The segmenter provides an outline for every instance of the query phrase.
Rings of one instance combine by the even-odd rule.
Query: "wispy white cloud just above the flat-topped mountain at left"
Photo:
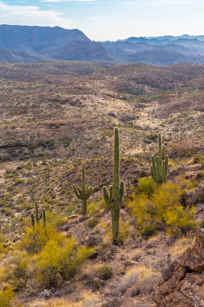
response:
[[[6,5],[0,2],[0,23],[27,26],[59,26],[67,28],[71,20],[56,10],[41,11],[35,6]]]

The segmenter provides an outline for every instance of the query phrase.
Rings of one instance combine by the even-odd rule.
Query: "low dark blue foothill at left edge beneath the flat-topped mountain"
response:
[[[0,62],[10,63],[33,63],[37,61],[51,60],[50,57],[38,53],[30,53],[26,51],[16,51],[0,48]]]

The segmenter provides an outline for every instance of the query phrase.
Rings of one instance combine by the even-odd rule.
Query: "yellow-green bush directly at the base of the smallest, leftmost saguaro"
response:
[[[62,245],[65,237],[50,226],[27,227],[18,248],[29,254],[38,253],[49,240],[55,240],[59,245]]]

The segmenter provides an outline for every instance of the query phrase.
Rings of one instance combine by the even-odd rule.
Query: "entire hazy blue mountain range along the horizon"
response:
[[[54,59],[203,64],[204,35],[129,37],[115,42],[94,42],[77,29],[0,25],[0,62],[32,63]]]

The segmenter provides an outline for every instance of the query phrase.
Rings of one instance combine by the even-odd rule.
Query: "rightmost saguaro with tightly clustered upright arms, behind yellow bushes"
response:
[[[166,155],[165,160],[162,161],[160,133],[158,134],[158,156],[156,158],[152,156],[151,161],[151,177],[157,183],[165,182],[168,170],[168,156]]]

